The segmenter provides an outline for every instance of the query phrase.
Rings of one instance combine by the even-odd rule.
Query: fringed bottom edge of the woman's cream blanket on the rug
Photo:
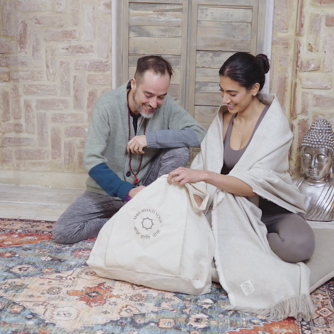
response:
[[[288,317],[294,317],[298,321],[310,321],[310,319],[315,316],[314,305],[308,294],[287,298],[265,309],[253,309],[229,305],[224,307],[224,310],[261,314],[266,316],[268,320],[278,321]]]

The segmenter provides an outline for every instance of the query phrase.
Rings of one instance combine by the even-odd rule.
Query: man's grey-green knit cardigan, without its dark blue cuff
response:
[[[126,175],[130,170],[130,154],[126,151],[129,140],[127,85],[128,83],[125,83],[118,89],[106,92],[96,101],[86,136],[83,166],[89,172],[93,167],[106,163],[121,180],[134,184],[133,174]],[[132,120],[130,127],[132,138],[135,136]],[[188,131],[181,133],[182,129]],[[190,129],[193,131],[189,131]],[[166,130],[169,131],[166,132]],[[143,134],[144,122],[137,129],[137,135]],[[137,178],[143,179],[159,148],[198,147],[204,135],[205,129],[167,95],[153,117],[147,120],[148,145],[144,148],[145,154],[143,154]],[[132,155],[131,167],[135,173],[138,170],[140,159],[140,154]],[[91,177],[88,177],[86,184],[87,190],[106,194]]]

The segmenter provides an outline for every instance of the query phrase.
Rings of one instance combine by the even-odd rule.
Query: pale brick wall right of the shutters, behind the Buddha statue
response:
[[[334,128],[334,0],[275,0],[270,91],[294,134],[290,173],[300,171],[300,142],[311,124]]]

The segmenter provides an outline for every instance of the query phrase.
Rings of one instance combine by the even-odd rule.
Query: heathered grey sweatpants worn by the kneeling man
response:
[[[161,175],[180,166],[186,167],[189,153],[187,147],[161,149],[152,160],[142,184],[148,186]],[[52,229],[53,237],[57,242],[66,244],[95,238],[102,226],[125,203],[108,195],[86,191],[59,217]]]

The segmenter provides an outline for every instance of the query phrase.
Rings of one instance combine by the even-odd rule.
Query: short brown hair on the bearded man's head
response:
[[[169,61],[161,56],[148,55],[138,58],[137,69],[135,73],[136,81],[140,81],[145,72],[151,70],[155,74],[165,75],[169,74],[169,77],[173,75],[173,68]]]

